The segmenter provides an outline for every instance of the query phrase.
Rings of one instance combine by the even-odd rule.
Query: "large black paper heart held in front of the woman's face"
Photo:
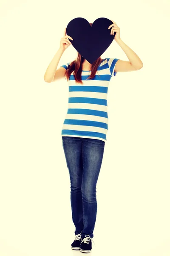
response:
[[[77,52],[92,64],[108,49],[115,37],[116,32],[111,35],[111,29],[108,29],[111,24],[111,20],[102,17],[91,26],[86,19],[78,17],[68,23],[66,33],[73,38],[69,40]]]

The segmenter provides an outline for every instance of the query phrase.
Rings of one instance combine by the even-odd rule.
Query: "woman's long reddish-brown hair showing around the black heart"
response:
[[[89,24],[92,26],[93,23],[89,23]],[[77,52],[77,58],[68,65],[68,69],[65,74],[67,81],[68,81],[71,73],[74,71],[75,81],[77,83],[83,84],[81,76],[82,76],[82,63],[83,63],[84,59],[85,58],[83,58],[83,56],[81,54],[79,54],[79,52]],[[94,61],[91,64],[91,74],[87,79],[93,79],[95,77],[97,68],[99,67],[101,62],[102,62],[102,58],[99,57],[96,59],[96,61]]]

